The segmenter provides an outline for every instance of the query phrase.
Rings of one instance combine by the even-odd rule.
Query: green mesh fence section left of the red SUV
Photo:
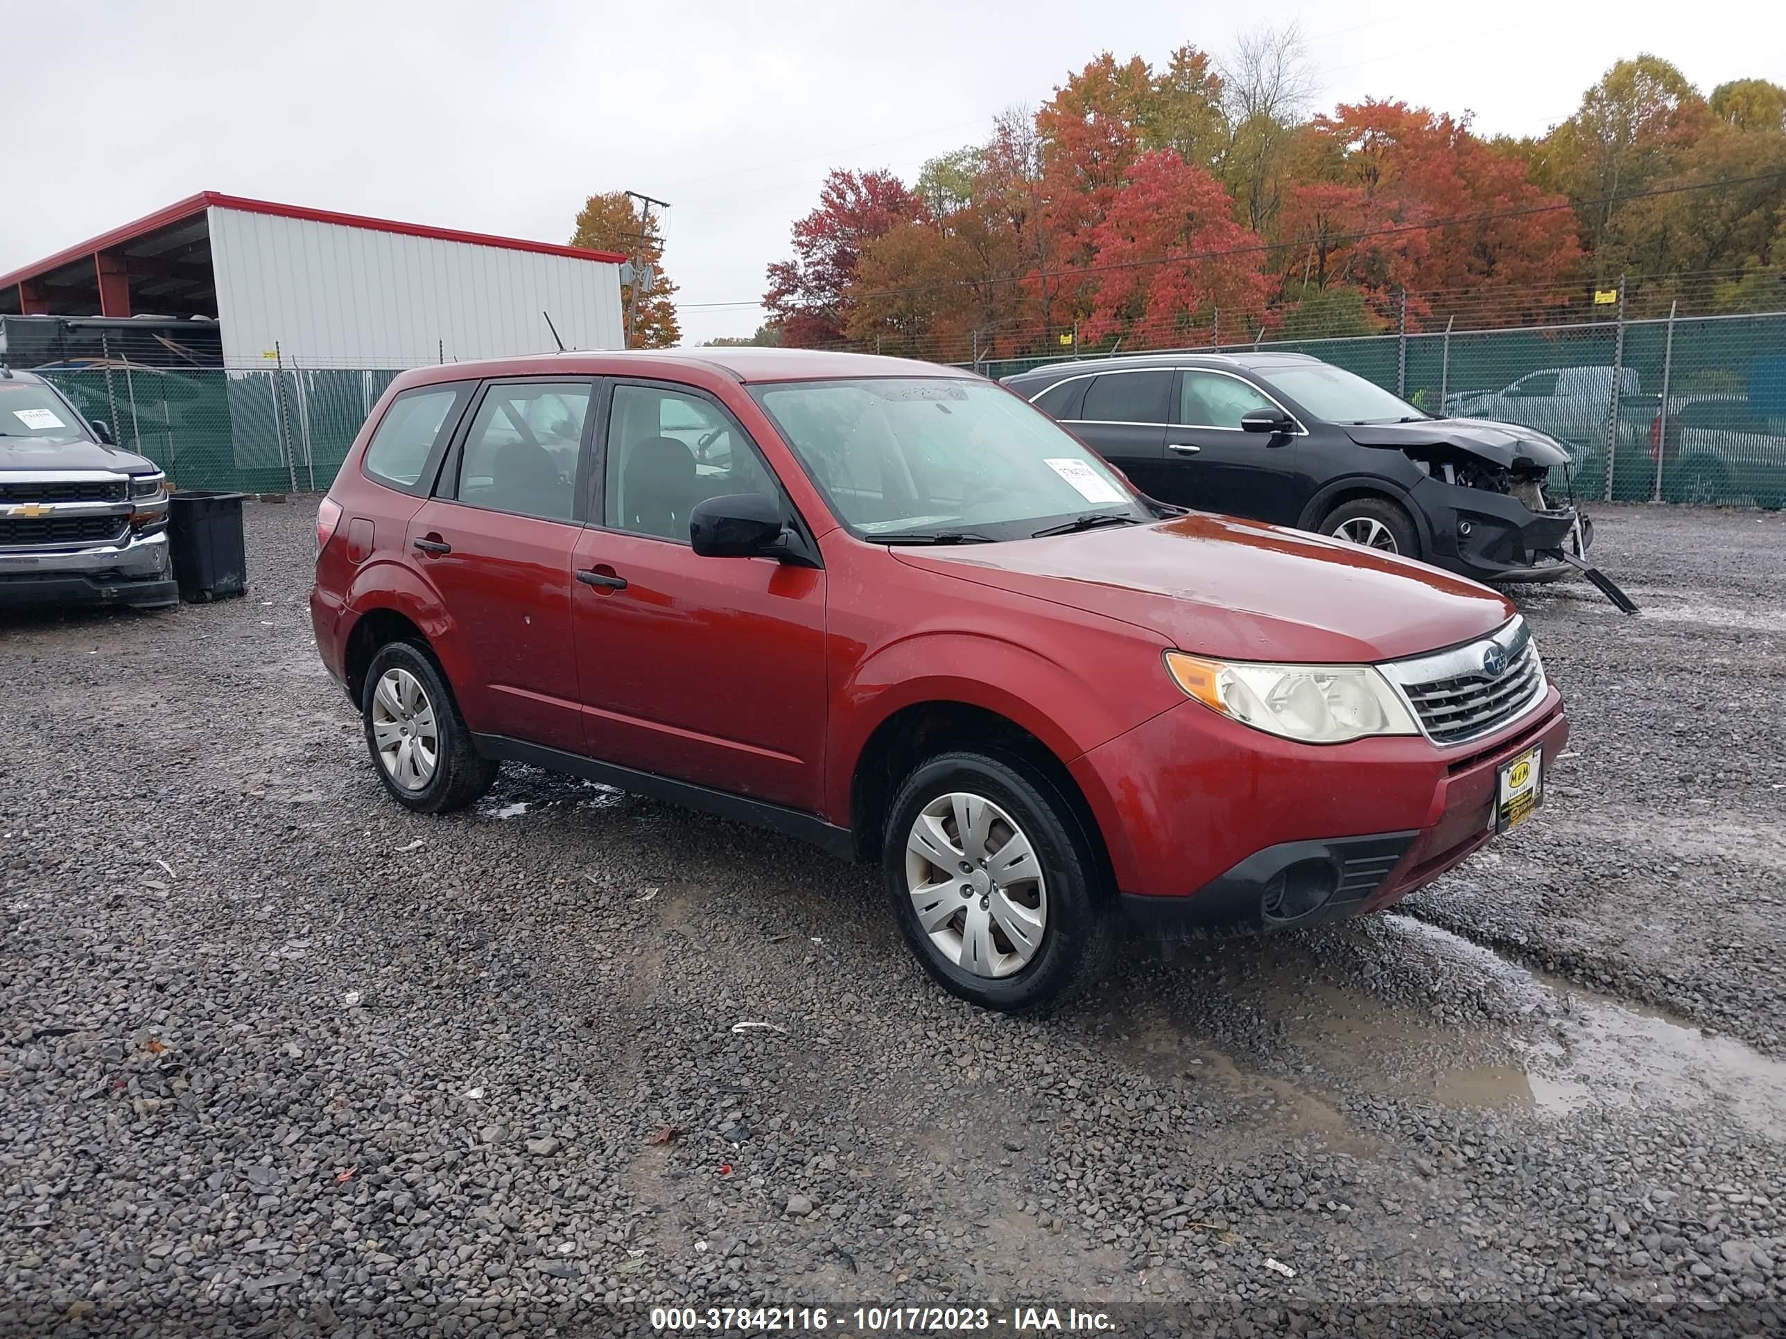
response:
[[[318,493],[396,371],[114,364],[43,375],[177,487]]]

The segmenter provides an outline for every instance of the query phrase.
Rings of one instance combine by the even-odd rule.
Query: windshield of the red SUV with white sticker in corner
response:
[[[857,536],[1027,539],[1154,509],[1009,391],[954,377],[755,387],[800,464]]]

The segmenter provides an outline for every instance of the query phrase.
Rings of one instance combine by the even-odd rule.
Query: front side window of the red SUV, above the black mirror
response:
[[[688,543],[695,503],[732,493],[780,500],[757,448],[716,403],[659,386],[616,386],[607,416],[602,523]]]

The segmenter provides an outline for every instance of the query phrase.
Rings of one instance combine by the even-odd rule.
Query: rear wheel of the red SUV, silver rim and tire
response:
[[[361,694],[366,748],[391,798],[418,814],[464,809],[500,768],[472,746],[472,732],[434,659],[393,641],[371,657]]]

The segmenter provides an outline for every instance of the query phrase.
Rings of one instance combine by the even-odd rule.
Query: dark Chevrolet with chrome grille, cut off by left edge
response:
[[[0,609],[180,602],[168,484],[54,386],[0,366]]]

